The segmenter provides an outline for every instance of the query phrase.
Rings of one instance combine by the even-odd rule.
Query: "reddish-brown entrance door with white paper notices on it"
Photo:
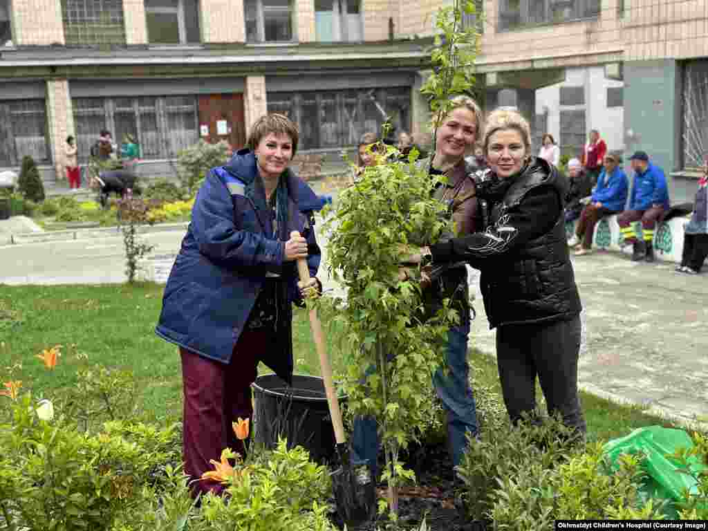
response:
[[[207,94],[199,96],[199,134],[210,144],[225,140],[234,152],[246,145],[244,95]]]

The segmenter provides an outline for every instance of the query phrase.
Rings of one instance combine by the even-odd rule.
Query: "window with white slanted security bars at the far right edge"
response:
[[[687,62],[683,79],[683,166],[700,168],[708,154],[708,59]]]

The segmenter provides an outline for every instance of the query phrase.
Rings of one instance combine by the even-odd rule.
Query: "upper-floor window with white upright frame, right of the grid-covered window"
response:
[[[150,44],[200,42],[198,0],[145,0]]]

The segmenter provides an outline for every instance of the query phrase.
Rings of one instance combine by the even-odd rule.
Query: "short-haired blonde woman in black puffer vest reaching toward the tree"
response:
[[[566,179],[530,155],[528,122],[515,110],[486,120],[491,171],[477,183],[486,202],[484,232],[424,248],[414,260],[464,260],[481,271],[506,409],[513,422],[536,407],[538,376],[549,414],[586,432],[578,399],[581,302],[564,230]]]

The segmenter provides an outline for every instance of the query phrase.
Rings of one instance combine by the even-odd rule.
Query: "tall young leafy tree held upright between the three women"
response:
[[[464,13],[474,14],[472,1],[456,0],[438,12],[434,72],[421,89],[429,98],[433,127],[449,112],[450,97],[469,94],[474,84],[471,67],[479,35],[476,27],[462,27]],[[440,180],[416,164],[417,152],[402,162],[391,162],[397,158],[393,155],[393,147],[377,154],[380,164],[367,167],[355,186],[343,190],[326,228],[329,265],[347,292],[346,301],[331,304],[349,347],[348,406],[357,415],[377,418],[386,458],[382,477],[395,520],[397,486],[413,479],[398,460],[399,450],[426,424],[430,393],[424,390],[444,359],[447,329],[459,316],[446,302],[438,314],[423,319],[421,272],[401,272],[406,248],[432,244],[451,227],[445,205],[432,195]]]

